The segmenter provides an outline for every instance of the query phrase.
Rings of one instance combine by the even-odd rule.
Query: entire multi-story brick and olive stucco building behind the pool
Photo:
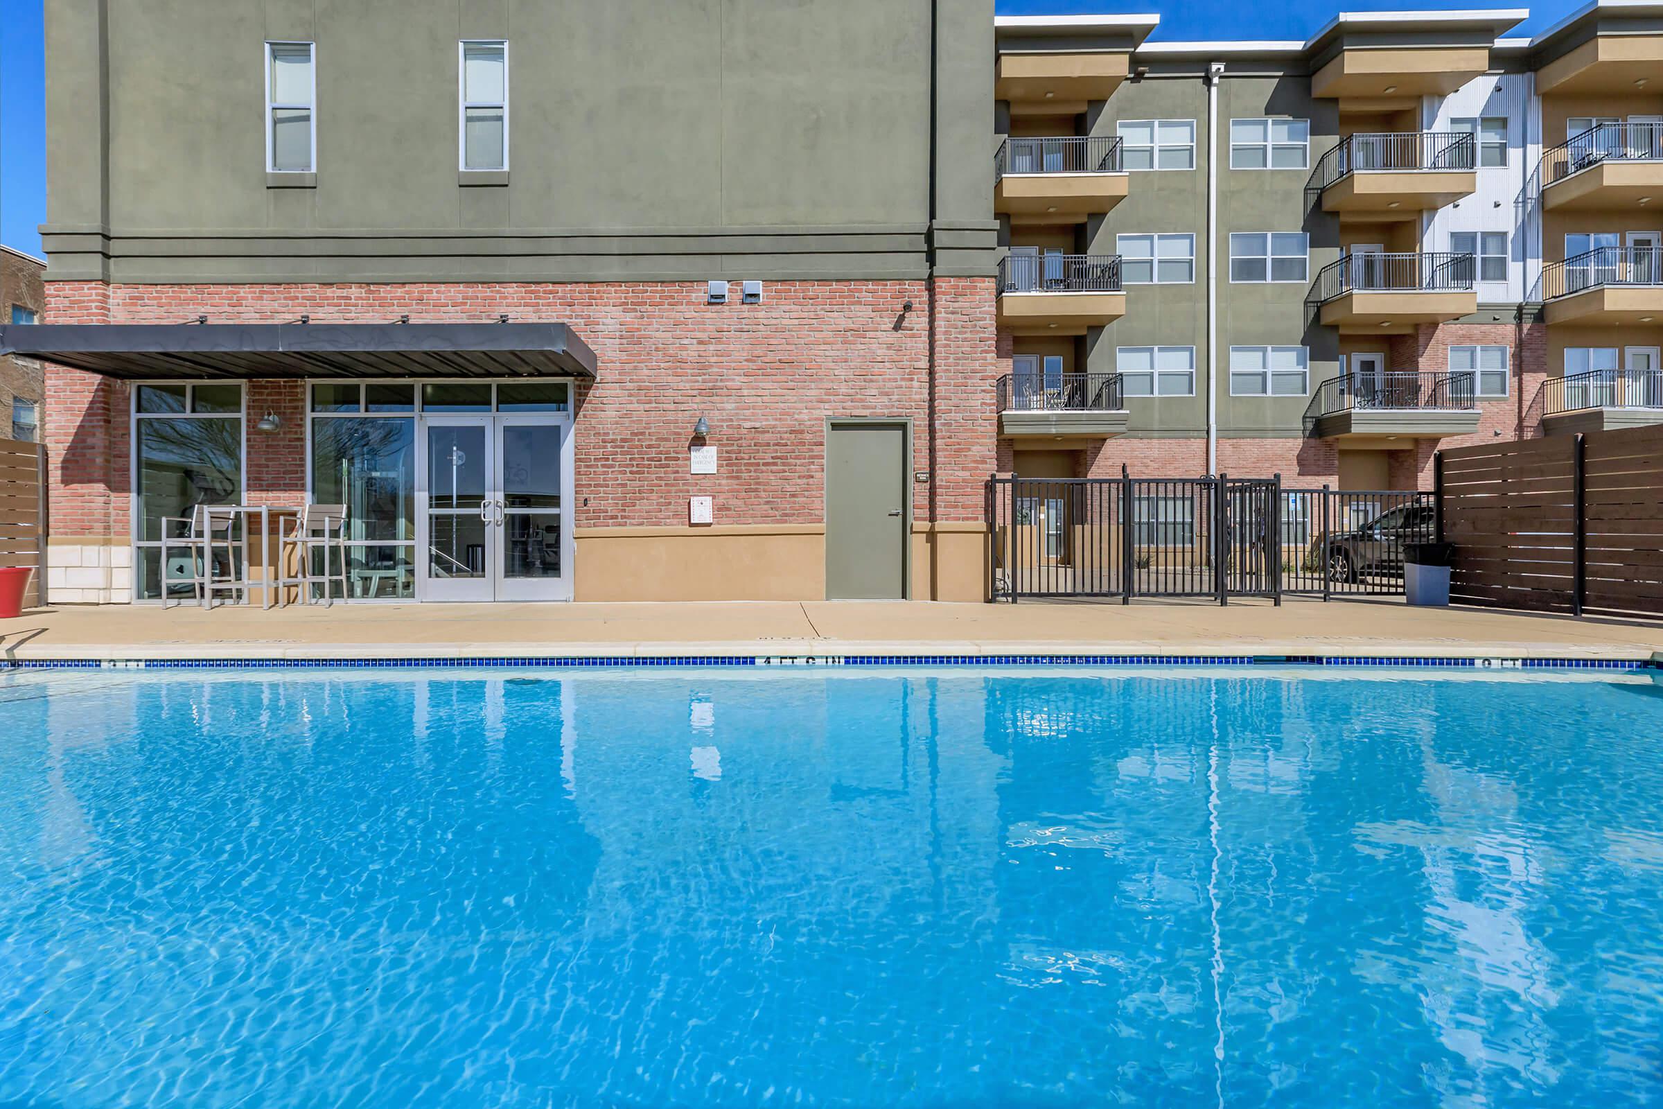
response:
[[[366,600],[981,599],[993,472],[1663,416],[1660,5],[47,15],[57,600],[215,500],[346,502]]]

